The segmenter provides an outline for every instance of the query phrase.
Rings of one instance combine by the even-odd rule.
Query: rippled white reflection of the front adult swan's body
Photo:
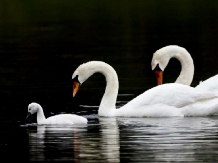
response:
[[[127,153],[127,159],[132,162],[217,160],[217,117],[121,118],[118,121],[123,126],[121,153]]]

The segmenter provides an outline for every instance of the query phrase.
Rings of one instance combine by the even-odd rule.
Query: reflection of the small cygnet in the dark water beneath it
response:
[[[84,131],[86,127],[37,126],[37,131],[29,131],[30,161],[78,162],[80,132]]]

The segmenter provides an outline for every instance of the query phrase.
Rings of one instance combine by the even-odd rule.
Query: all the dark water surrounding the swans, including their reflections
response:
[[[192,86],[218,72],[218,2],[23,0],[0,2],[1,160],[215,162],[217,117],[98,118],[105,79],[95,74],[72,98],[71,75],[101,60],[119,77],[117,106],[155,86],[152,54],[167,45],[193,57]],[[164,72],[174,82],[175,59]],[[126,96],[128,94],[128,96]],[[45,116],[75,113],[87,126],[28,126],[30,102]]]

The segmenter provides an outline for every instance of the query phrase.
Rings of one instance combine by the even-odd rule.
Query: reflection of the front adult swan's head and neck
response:
[[[120,162],[119,127],[116,118],[99,118],[90,125],[80,144],[80,161]],[[95,162],[94,161],[94,162]]]

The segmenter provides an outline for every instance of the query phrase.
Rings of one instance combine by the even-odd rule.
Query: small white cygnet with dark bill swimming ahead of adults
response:
[[[28,114],[27,119],[30,115],[37,113],[37,123],[39,125],[43,124],[87,124],[87,119],[75,114],[60,114],[51,116],[49,118],[45,118],[45,115],[43,113],[43,109],[41,105],[38,103],[30,103],[28,105]]]

